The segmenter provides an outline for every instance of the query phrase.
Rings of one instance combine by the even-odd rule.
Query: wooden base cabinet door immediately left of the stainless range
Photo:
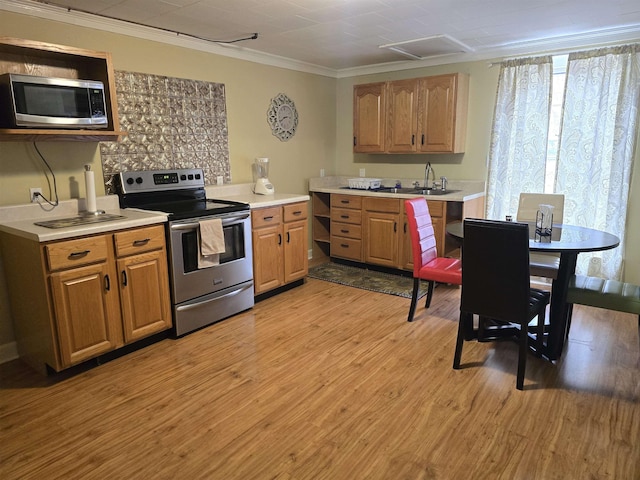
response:
[[[125,342],[171,328],[164,250],[119,259],[118,275]]]

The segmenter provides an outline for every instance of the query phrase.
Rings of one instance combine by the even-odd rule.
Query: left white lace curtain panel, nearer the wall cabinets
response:
[[[515,218],[520,192],[544,191],[552,79],[550,56],[501,64],[489,150],[487,218]]]

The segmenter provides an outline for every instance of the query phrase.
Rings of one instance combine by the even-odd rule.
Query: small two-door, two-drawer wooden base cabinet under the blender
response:
[[[256,295],[307,275],[307,203],[298,202],[251,211]]]

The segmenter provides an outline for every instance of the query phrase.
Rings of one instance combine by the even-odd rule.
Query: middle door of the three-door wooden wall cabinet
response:
[[[389,83],[387,106],[387,151],[415,152],[418,130],[417,79]]]

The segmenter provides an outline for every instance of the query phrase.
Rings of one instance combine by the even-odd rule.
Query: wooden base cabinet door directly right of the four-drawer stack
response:
[[[394,213],[365,212],[366,263],[398,266],[399,218]]]

